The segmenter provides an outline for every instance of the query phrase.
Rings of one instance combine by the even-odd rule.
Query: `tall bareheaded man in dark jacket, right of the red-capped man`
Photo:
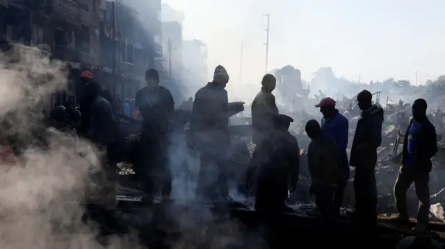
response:
[[[363,90],[357,95],[362,114],[350,151],[350,166],[355,167],[355,215],[357,225],[368,231],[377,225],[377,186],[375,164],[377,148],[382,143],[383,110],[372,104],[372,94]]]

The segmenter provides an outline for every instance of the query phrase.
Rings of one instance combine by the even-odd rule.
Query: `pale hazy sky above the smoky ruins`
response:
[[[266,17],[268,69],[293,65],[310,79],[330,66],[349,80],[393,77],[415,83],[445,74],[444,0],[163,0],[182,10],[184,39],[209,44],[209,68],[221,64],[232,82],[264,74]]]

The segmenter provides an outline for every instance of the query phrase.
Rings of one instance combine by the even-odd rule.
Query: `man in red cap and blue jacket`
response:
[[[320,112],[323,114],[321,129],[334,139],[337,144],[337,151],[339,152],[339,167],[344,181],[343,184],[339,184],[335,191],[334,207],[336,212],[340,212],[341,203],[343,202],[343,192],[350,177],[348,153],[346,151],[349,137],[349,122],[348,119],[335,108],[335,101],[332,98],[323,98],[315,107],[320,108]]]

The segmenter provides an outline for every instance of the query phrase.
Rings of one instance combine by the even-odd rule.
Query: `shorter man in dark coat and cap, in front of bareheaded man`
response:
[[[259,141],[247,178],[250,186],[253,175],[257,175],[255,209],[265,214],[286,211],[288,190],[296,190],[300,171],[298,141],[288,130],[293,119],[280,114],[272,121],[274,130]]]

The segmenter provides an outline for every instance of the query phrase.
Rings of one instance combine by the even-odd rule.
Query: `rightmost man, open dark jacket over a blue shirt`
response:
[[[398,210],[398,219],[407,221],[406,191],[412,182],[416,184],[416,194],[419,198],[419,213],[417,215],[416,232],[425,232],[428,228],[430,210],[430,180],[431,157],[437,153],[436,129],[426,117],[427,103],[419,98],[412,104],[412,117],[403,141],[403,157],[398,173],[394,196]]]

